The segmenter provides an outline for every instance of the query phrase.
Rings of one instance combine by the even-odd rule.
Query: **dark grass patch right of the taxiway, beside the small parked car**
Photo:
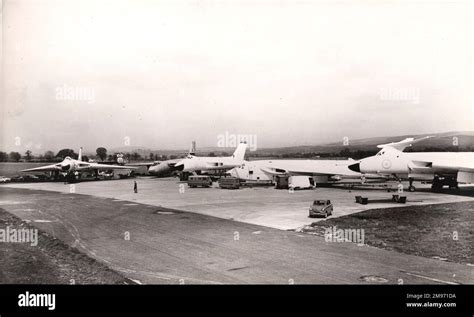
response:
[[[473,213],[474,202],[372,209],[316,222],[303,232],[324,236],[333,226],[364,229],[370,246],[474,264]]]

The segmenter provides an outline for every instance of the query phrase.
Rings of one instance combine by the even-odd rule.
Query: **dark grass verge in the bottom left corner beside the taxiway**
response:
[[[36,229],[0,208],[0,229]],[[38,245],[0,242],[2,284],[125,284],[130,281],[41,230]]]

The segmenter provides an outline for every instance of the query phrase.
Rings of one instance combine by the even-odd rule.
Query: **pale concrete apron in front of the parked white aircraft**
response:
[[[133,191],[134,180],[138,193]],[[406,184],[405,184],[406,185]],[[393,194],[380,189],[353,189],[318,187],[315,190],[276,190],[273,187],[242,188],[225,190],[213,188],[189,188],[175,178],[143,177],[128,180],[82,182],[75,184],[56,183],[10,183],[8,187],[48,190],[60,193],[77,193],[103,198],[113,198],[132,203],[167,207],[200,213],[229,220],[241,221],[271,228],[294,230],[320,221],[308,218],[308,209],[315,199],[329,199],[334,204],[333,217],[344,216],[368,209],[418,206],[437,203],[454,203],[474,200],[474,187],[461,191],[461,195],[438,194],[421,185],[419,191],[403,192],[406,204],[391,202]],[[394,188],[397,188],[396,186]],[[405,188],[408,188],[406,185]],[[369,197],[374,202],[368,205],[355,203],[355,196]]]

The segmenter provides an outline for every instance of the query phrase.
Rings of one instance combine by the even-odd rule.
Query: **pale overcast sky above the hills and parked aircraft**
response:
[[[471,6],[7,0],[1,148],[473,130]]]

